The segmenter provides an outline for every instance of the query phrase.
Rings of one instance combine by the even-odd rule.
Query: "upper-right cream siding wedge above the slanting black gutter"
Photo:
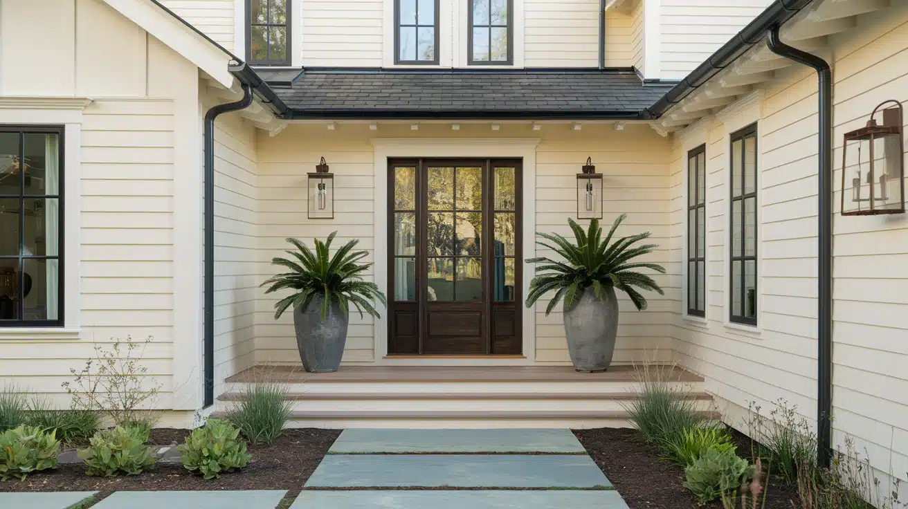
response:
[[[771,0],[661,2],[659,78],[669,80],[684,78],[772,3]]]

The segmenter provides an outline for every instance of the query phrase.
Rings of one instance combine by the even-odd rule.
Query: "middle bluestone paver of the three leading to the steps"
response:
[[[587,455],[326,455],[306,487],[610,487]]]

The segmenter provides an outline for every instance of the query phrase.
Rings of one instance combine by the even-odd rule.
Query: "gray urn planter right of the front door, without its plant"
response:
[[[603,302],[596,298],[592,288],[588,288],[577,305],[565,311],[568,352],[577,371],[605,371],[612,363],[618,330],[618,300],[615,289],[609,288],[605,292]]]

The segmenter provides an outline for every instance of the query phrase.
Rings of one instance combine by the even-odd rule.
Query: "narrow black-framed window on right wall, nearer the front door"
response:
[[[706,317],[706,145],[687,152],[687,314]]]

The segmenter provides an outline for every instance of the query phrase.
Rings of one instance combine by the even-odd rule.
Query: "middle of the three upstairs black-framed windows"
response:
[[[395,64],[439,63],[439,0],[395,0]]]

